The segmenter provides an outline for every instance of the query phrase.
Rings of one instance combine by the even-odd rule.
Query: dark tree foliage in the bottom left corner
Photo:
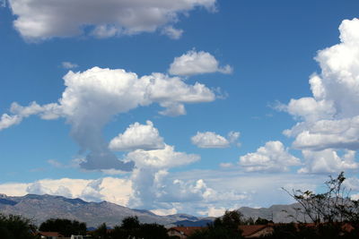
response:
[[[35,230],[35,226],[28,218],[0,215],[0,238],[2,239],[32,239],[35,238]]]

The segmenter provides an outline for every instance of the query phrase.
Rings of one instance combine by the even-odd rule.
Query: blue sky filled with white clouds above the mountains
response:
[[[204,216],[357,192],[357,1],[90,2],[0,7],[0,192]]]

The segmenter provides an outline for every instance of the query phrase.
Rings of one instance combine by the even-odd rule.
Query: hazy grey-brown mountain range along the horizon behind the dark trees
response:
[[[246,218],[267,218],[275,222],[290,222],[295,215],[297,204],[274,205],[268,209],[251,209],[242,207],[240,210]],[[285,212],[286,211],[286,212]],[[31,218],[35,225],[48,218],[68,218],[86,222],[87,226],[95,227],[106,222],[108,226],[120,225],[123,218],[137,216],[142,223],[158,223],[170,226],[206,226],[215,218],[198,218],[188,214],[159,216],[149,210],[129,209],[109,201],[88,202],[81,199],[68,199],[62,196],[28,194],[22,197],[0,194],[0,213],[4,215],[22,215]]]

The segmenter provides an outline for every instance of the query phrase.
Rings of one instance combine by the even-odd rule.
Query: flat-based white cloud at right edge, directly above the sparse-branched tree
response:
[[[302,150],[306,164],[299,173],[339,173],[358,168],[355,162],[355,151],[347,150],[342,157],[333,149],[321,151]]]

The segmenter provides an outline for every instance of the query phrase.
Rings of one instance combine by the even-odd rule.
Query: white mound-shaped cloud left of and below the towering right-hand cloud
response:
[[[239,164],[249,172],[285,172],[289,170],[289,166],[298,166],[301,162],[288,153],[288,149],[285,149],[281,141],[268,141],[255,153],[241,156]]]

